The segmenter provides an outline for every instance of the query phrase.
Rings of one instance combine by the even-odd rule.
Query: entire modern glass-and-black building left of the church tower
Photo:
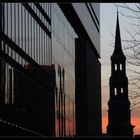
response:
[[[99,3],[1,3],[0,19],[0,135],[101,135]]]

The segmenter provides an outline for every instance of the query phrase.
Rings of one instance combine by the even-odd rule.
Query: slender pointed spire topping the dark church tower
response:
[[[118,7],[117,7],[117,22],[116,22],[116,36],[115,36],[115,51],[122,52]]]

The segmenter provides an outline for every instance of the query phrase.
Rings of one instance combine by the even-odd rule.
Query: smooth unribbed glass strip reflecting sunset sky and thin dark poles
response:
[[[59,6],[56,3],[52,3],[52,63],[55,64],[57,86],[55,107],[56,136],[75,135],[76,37],[76,33],[74,32],[70,23],[67,21]],[[62,76],[62,79],[64,76],[64,83],[61,82],[60,76]],[[63,99],[61,97],[59,98],[59,96],[61,96],[61,86],[63,86],[60,82],[64,84],[64,89],[62,89]],[[59,102],[61,102],[60,107]],[[64,122],[63,119],[65,119]]]

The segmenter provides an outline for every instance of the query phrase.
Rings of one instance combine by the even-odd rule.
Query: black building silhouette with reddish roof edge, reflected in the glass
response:
[[[51,93],[49,95],[35,87],[17,70],[14,70],[14,102],[16,106],[14,115],[17,119],[22,119],[37,128],[40,134],[55,136],[55,67],[54,65],[42,65],[41,67],[46,71],[46,74],[51,75],[51,79],[47,79],[43,73],[39,73],[31,65],[26,65],[26,72],[40,77],[42,85],[45,83],[44,88],[47,87]]]

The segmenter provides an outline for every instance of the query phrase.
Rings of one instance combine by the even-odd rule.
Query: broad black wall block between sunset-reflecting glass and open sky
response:
[[[101,69],[92,45],[76,39],[76,135],[101,135]]]

